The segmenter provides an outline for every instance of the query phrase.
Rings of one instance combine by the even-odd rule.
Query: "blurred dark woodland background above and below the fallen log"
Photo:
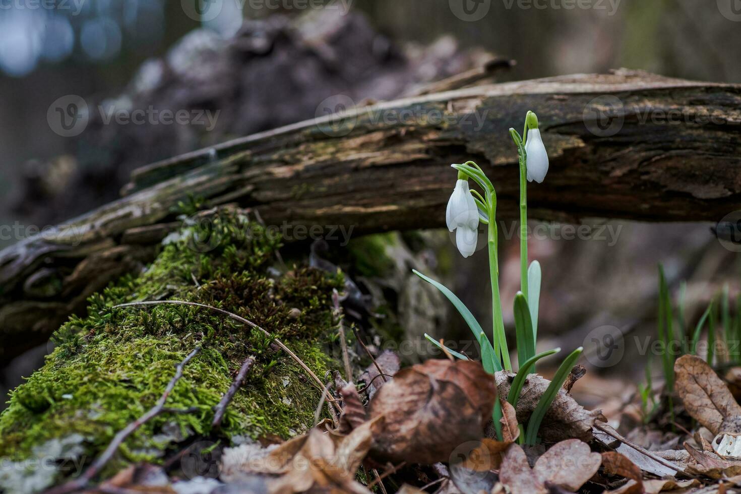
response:
[[[0,224],[54,224],[116,198],[141,165],[313,118],[328,96],[393,99],[491,59],[516,61],[499,81],[618,67],[741,80],[737,0],[345,0],[323,2],[324,10],[321,3],[0,0]],[[70,95],[91,109],[219,113],[208,130],[108,125],[91,113],[82,133],[65,137],[47,113]],[[649,331],[658,262],[675,292],[688,279],[691,318],[725,281],[732,295],[739,291],[737,258],[708,224],[591,224],[619,233],[614,242],[531,242],[546,280],[541,334],[562,346],[581,344],[603,325]],[[6,233],[0,247],[20,239]],[[511,300],[516,238],[504,248],[502,292]],[[474,264],[485,269],[485,255],[465,264],[452,251],[449,258],[461,268],[451,270],[453,287],[486,320],[488,302],[479,304],[476,293],[486,293],[488,280],[471,278]],[[459,329],[451,318],[439,336]],[[44,351],[16,361],[4,387]],[[642,373],[636,360],[623,360]]]

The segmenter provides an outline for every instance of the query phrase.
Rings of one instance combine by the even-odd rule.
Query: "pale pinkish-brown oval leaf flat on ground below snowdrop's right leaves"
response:
[[[533,472],[543,483],[550,482],[575,492],[597,473],[602,456],[592,453],[588,444],[568,439],[554,444],[535,462]]]

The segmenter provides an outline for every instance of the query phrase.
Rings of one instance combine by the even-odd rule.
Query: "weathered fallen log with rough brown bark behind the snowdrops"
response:
[[[119,201],[0,253],[0,357],[44,341],[86,296],[153,258],[188,196],[325,233],[439,227],[449,165],[472,159],[496,184],[499,217],[515,217],[508,128],[529,109],[551,156],[528,190],[531,216],[717,221],[741,209],[740,107],[738,85],[562,76],[361,107],[144,167]]]

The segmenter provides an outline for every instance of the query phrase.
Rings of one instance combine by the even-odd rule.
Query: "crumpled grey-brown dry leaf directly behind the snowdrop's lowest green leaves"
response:
[[[496,373],[496,386],[499,388],[500,396],[509,394],[513,373],[500,371]],[[525,385],[517,401],[517,421],[525,424],[551,381],[540,375],[528,375]],[[599,410],[588,411],[576,403],[576,400],[568,395],[565,390],[559,390],[551,408],[545,413],[540,425],[538,435],[544,442],[556,443],[565,439],[581,439],[591,441],[592,426],[598,418],[602,418]]]

